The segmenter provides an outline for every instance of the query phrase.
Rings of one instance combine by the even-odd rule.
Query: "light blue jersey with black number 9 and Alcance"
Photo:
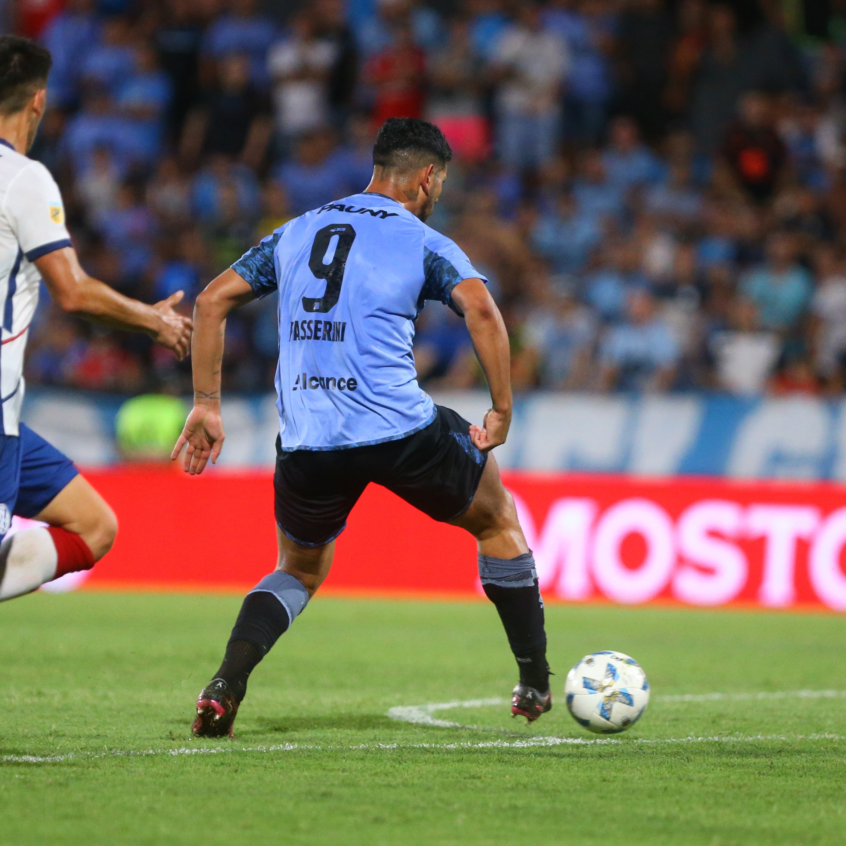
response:
[[[295,217],[233,264],[258,296],[279,291],[280,437],[294,449],[393,441],[428,426],[411,352],[427,299],[485,279],[397,201],[356,194]],[[485,280],[487,281],[487,280]]]

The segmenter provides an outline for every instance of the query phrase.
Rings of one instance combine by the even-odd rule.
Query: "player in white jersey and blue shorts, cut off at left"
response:
[[[69,313],[147,332],[180,359],[190,344],[191,321],[173,310],[181,292],[144,305],[80,267],[58,186],[44,165],[26,157],[46,107],[50,65],[43,47],[0,36],[0,600],[93,567],[117,532],[111,508],[74,464],[19,420],[41,279]],[[4,537],[13,514],[47,528]]]

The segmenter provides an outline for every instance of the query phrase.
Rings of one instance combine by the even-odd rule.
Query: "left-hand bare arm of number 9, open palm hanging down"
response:
[[[194,408],[171,453],[171,459],[176,459],[188,444],[183,467],[191,475],[202,473],[209,459],[214,464],[223,447],[226,436],[220,415],[220,382],[226,318],[250,299],[255,299],[253,289],[231,267],[197,297],[191,340]]]

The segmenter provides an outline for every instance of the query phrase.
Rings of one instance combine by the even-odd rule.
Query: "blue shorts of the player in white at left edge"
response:
[[[80,471],[29,426],[20,435],[0,435],[0,540],[12,514],[35,517]]]

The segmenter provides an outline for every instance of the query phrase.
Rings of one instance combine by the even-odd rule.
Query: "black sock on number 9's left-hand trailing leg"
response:
[[[247,692],[247,679],[255,665],[289,625],[288,612],[276,596],[267,591],[248,593],[214,678],[222,678],[240,702]]]

